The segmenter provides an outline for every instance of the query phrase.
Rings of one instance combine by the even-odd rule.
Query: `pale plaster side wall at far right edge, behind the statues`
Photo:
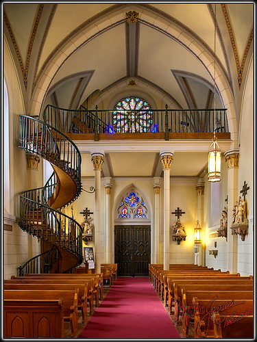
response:
[[[238,196],[243,187],[244,181],[249,186],[249,190],[245,196],[247,202],[247,218],[249,220],[248,235],[245,241],[238,237],[238,255],[237,255],[237,272],[241,276],[252,275],[254,272],[254,231],[253,231],[253,66],[249,68],[247,82],[243,94],[243,106],[240,120],[240,157],[238,163]]]

